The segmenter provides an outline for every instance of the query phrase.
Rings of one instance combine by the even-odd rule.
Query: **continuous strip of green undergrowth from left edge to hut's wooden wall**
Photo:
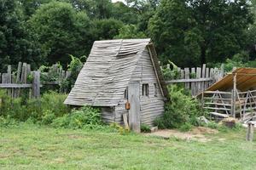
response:
[[[66,94],[49,92],[41,99],[11,99],[5,91],[0,91],[0,124],[8,126],[13,122],[34,122],[65,128],[102,127],[100,111],[84,106],[73,109],[63,102]]]

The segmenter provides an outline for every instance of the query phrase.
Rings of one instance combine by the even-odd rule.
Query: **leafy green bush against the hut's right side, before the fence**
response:
[[[156,119],[154,124],[159,128],[179,128],[184,123],[197,126],[197,117],[203,113],[199,102],[176,85],[169,87],[169,94],[170,100],[166,103],[164,115]]]

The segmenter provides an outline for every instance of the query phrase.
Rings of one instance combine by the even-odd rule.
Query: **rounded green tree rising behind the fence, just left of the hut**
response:
[[[70,3],[43,4],[29,20],[31,30],[38,35],[41,48],[48,52],[49,64],[60,61],[67,65],[68,54],[89,54],[92,44],[90,20]]]

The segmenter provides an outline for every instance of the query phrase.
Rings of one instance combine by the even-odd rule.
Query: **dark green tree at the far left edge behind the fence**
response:
[[[24,15],[15,0],[0,0],[0,71],[19,61],[32,66],[44,60],[36,37],[28,32]],[[5,70],[6,71],[6,70]]]

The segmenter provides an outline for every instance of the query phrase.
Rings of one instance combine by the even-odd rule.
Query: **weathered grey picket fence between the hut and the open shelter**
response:
[[[167,65],[170,69],[170,65]],[[179,77],[174,80],[167,80],[167,84],[184,83],[185,88],[191,90],[192,96],[200,94],[214,82],[224,77],[224,65],[221,68],[208,68],[206,65],[196,68],[177,68]]]

